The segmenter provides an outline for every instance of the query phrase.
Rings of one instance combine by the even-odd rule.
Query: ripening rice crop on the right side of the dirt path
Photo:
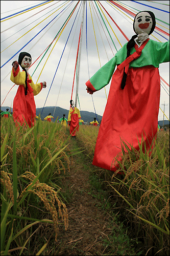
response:
[[[99,127],[81,127],[79,140],[93,159]],[[169,132],[160,131],[152,154],[132,150],[123,142],[123,162],[110,178],[101,172],[107,186],[119,197],[117,207],[131,223],[135,237],[142,238],[147,253],[169,253]],[[127,148],[127,152],[124,151]],[[117,175],[123,170],[125,176]]]

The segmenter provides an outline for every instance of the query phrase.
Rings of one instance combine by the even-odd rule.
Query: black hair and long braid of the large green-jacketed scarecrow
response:
[[[152,25],[152,28],[151,28],[151,31],[149,33],[152,34],[152,32],[154,31],[155,29],[155,25],[156,25],[156,22],[155,22],[155,15],[153,12],[151,11],[141,11],[141,12],[148,12],[150,15],[151,15],[151,18],[152,18],[152,21],[153,21],[153,25]],[[139,14],[140,12],[138,12],[136,14],[136,16]],[[135,16],[135,18],[136,18]],[[134,28],[134,24],[135,24],[135,18],[134,18],[134,22],[133,22],[133,30],[135,31],[135,28]],[[135,32],[136,33],[136,32]],[[126,58],[128,58],[131,54],[131,49],[132,47],[135,46],[135,38],[137,37],[137,34],[136,35],[133,35],[132,38],[129,40],[128,44],[127,44],[127,56]],[[123,90],[126,86],[126,78],[127,78],[127,74],[125,73],[125,68],[124,68],[124,75],[123,75],[123,78],[122,78],[122,83],[121,83],[121,89]]]

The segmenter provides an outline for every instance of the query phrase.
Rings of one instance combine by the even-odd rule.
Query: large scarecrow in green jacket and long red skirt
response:
[[[115,172],[117,160],[122,160],[122,141],[136,150],[142,140],[147,150],[154,142],[160,101],[158,68],[160,63],[169,61],[169,41],[149,38],[155,24],[153,12],[137,13],[133,23],[136,35],[86,82],[87,93],[92,94],[112,78],[93,165]]]

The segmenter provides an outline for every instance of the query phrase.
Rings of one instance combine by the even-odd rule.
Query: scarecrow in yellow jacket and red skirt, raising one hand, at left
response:
[[[36,106],[34,96],[37,95],[42,88],[46,87],[46,82],[34,84],[32,77],[29,75],[28,69],[32,63],[31,55],[27,52],[21,52],[18,61],[12,62],[11,81],[17,84],[18,90],[13,101],[13,119],[18,126],[29,125],[34,126],[36,117]],[[19,65],[22,72],[19,70]]]

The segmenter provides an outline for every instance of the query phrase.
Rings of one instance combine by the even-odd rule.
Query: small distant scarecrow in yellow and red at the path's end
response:
[[[68,113],[68,124],[70,126],[69,134],[72,138],[76,137],[76,132],[79,131],[79,119],[81,118],[80,110],[74,106],[75,102],[71,99],[71,108]]]

